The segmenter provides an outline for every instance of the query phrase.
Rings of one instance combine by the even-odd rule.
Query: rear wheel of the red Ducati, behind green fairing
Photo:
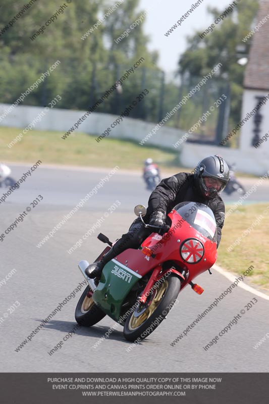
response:
[[[105,313],[98,308],[92,297],[87,296],[90,287],[82,293],[75,311],[76,322],[83,327],[90,327],[105,317]]]

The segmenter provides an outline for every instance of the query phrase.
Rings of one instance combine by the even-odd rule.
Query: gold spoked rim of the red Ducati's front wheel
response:
[[[157,289],[155,289],[155,295],[152,300],[149,302],[148,306],[145,310],[139,315],[135,317],[136,311],[132,314],[132,317],[129,321],[129,329],[135,330],[140,327],[157,309],[162,300],[166,290],[168,288],[168,281],[164,281],[162,285],[160,285]]]

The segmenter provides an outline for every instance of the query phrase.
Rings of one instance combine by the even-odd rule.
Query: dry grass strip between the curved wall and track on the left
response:
[[[0,127],[1,160],[31,162],[40,159],[44,163],[102,168],[118,165],[122,169],[142,170],[144,160],[150,157],[160,169],[169,169],[172,174],[182,169],[176,151],[113,138],[104,138],[97,143],[95,136],[86,133],[76,133],[64,140],[61,138],[64,132],[32,130],[9,148],[7,144],[20,132],[22,130],[18,128]]]

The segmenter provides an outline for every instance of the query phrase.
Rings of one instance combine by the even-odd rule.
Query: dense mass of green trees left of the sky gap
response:
[[[44,84],[27,96],[25,104],[44,105],[59,94],[62,100],[58,107],[85,110],[93,106],[126,70],[143,57],[139,69],[123,82],[122,91],[114,91],[98,106],[97,112],[119,114],[148,87],[148,95],[130,115],[156,120],[162,71],[156,66],[157,53],[147,49],[148,38],[143,33],[145,18],[127,38],[120,43],[114,41],[140,17],[143,10],[138,8],[139,0],[125,0],[115,11],[108,12],[115,3],[115,0],[66,2],[66,7],[60,12],[60,6],[53,0],[45,3],[36,1],[9,26],[9,22],[23,9],[24,3],[10,4],[10,0],[2,0],[2,102],[15,102],[22,92],[59,60],[59,67]],[[46,26],[45,23],[58,11],[57,19]],[[102,16],[106,16],[105,19],[96,25]],[[1,34],[2,27],[7,28]]]

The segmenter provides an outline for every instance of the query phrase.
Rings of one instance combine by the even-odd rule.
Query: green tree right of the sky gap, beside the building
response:
[[[245,67],[240,66],[237,46],[242,45],[242,39],[251,30],[251,24],[258,9],[257,0],[244,0],[219,24],[214,21],[223,11],[208,8],[215,25],[212,32],[203,39],[204,31],[196,32],[188,38],[188,47],[179,60],[179,72],[188,73],[192,77],[202,77],[218,63],[222,63],[220,78],[228,80],[231,86],[231,118],[237,123],[241,116],[241,100]],[[245,53],[248,54],[249,45]]]

